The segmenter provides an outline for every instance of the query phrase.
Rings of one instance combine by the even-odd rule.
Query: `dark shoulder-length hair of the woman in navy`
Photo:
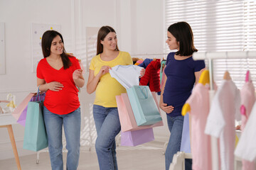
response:
[[[188,23],[174,23],[169,26],[168,31],[179,42],[179,50],[176,52],[176,55],[188,56],[198,51],[193,45],[193,32]]]

